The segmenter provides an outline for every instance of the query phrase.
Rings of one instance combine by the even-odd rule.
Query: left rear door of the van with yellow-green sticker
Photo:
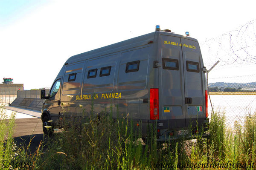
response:
[[[180,37],[160,35],[159,119],[169,128],[185,127],[184,64]]]

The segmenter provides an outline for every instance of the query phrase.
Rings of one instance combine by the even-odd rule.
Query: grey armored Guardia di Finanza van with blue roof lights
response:
[[[157,121],[158,140],[190,135],[207,124],[205,67],[198,41],[156,31],[70,57],[48,96],[41,91],[44,133],[66,115],[90,116],[118,105],[145,133]],[[84,113],[82,113],[82,109]],[[113,118],[116,118],[113,107]],[[122,116],[125,117],[125,116]],[[145,135],[145,134],[143,134]]]

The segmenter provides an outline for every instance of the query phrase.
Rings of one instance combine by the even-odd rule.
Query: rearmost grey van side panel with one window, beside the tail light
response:
[[[148,98],[148,89],[146,87],[150,51],[150,46],[145,46],[121,53],[117,92],[122,94],[122,98],[119,100],[119,113],[122,117],[137,120],[142,118],[139,107],[143,102],[143,98]],[[130,72],[128,63],[134,63],[138,68],[131,69],[132,71]],[[127,114],[129,115],[127,116]],[[143,116],[143,119],[146,118],[148,117]]]

